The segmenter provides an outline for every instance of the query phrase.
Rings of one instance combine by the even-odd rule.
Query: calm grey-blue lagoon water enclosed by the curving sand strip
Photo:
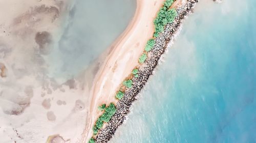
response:
[[[48,57],[49,76],[72,78],[87,69],[125,30],[135,10],[135,0],[75,0]]]

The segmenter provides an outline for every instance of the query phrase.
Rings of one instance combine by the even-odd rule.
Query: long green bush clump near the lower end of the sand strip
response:
[[[98,118],[96,121],[94,127],[93,127],[93,133],[97,134],[98,130],[103,127],[104,122],[109,122],[111,117],[115,114],[116,112],[116,106],[114,103],[110,103],[108,107],[105,108],[104,113]]]

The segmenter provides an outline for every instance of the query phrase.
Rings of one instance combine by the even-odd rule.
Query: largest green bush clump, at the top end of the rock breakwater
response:
[[[173,0],[166,0],[164,6],[157,13],[157,17],[154,20],[154,37],[158,37],[159,33],[163,32],[164,26],[167,23],[172,23],[174,21],[174,18],[177,16],[177,11],[175,9],[169,9],[169,7],[172,6],[173,2]]]

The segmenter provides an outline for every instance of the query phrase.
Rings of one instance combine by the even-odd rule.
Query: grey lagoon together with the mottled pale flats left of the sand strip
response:
[[[89,85],[83,84],[84,78],[78,79],[79,74],[86,74],[87,82],[93,78],[90,66],[125,30],[136,1],[72,2],[71,11],[65,1],[7,3],[18,11],[10,19],[17,16],[22,22],[11,25],[8,35],[2,30],[9,23],[0,20],[1,143],[46,142],[55,134],[70,142],[80,139],[89,100],[84,91]]]

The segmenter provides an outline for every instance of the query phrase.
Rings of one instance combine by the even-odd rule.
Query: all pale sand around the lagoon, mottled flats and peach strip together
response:
[[[153,36],[153,21],[163,2],[164,0],[137,0],[132,21],[103,53],[107,56],[92,83],[80,83],[76,79],[65,79],[64,82],[57,83],[54,78],[45,77],[49,63],[44,59],[51,51],[48,49],[51,47],[50,43],[59,38],[57,33],[63,20],[60,15],[67,14],[69,3],[50,0],[19,3],[15,0],[0,1],[2,11],[9,13],[0,13],[0,30],[4,32],[0,33],[0,83],[3,85],[0,91],[4,95],[4,100],[0,100],[0,103],[3,107],[12,103],[14,107],[22,108],[6,109],[11,110],[8,115],[6,111],[0,112],[0,119],[3,118],[1,124],[15,122],[17,127],[14,130],[12,126],[3,126],[0,131],[5,130],[5,133],[0,136],[4,136],[7,141],[11,138],[12,141],[20,139],[26,142],[45,142],[50,136],[48,142],[54,137],[60,142],[87,142],[93,134],[94,123],[101,115],[97,107],[103,103],[116,103],[115,94],[122,81],[139,65],[139,56],[147,40]],[[180,1],[174,4],[175,7],[180,5],[178,2]],[[13,91],[8,89],[8,85],[12,85]],[[16,92],[22,93],[22,96],[13,94]],[[9,96],[10,93],[13,96]],[[23,95],[28,100],[14,100]],[[13,114],[18,115],[17,118],[13,117],[8,121]],[[24,122],[28,123],[23,124]],[[37,126],[38,123],[40,126]],[[35,128],[31,129],[32,127]],[[35,133],[24,137],[27,132]],[[41,139],[38,140],[39,138]]]

